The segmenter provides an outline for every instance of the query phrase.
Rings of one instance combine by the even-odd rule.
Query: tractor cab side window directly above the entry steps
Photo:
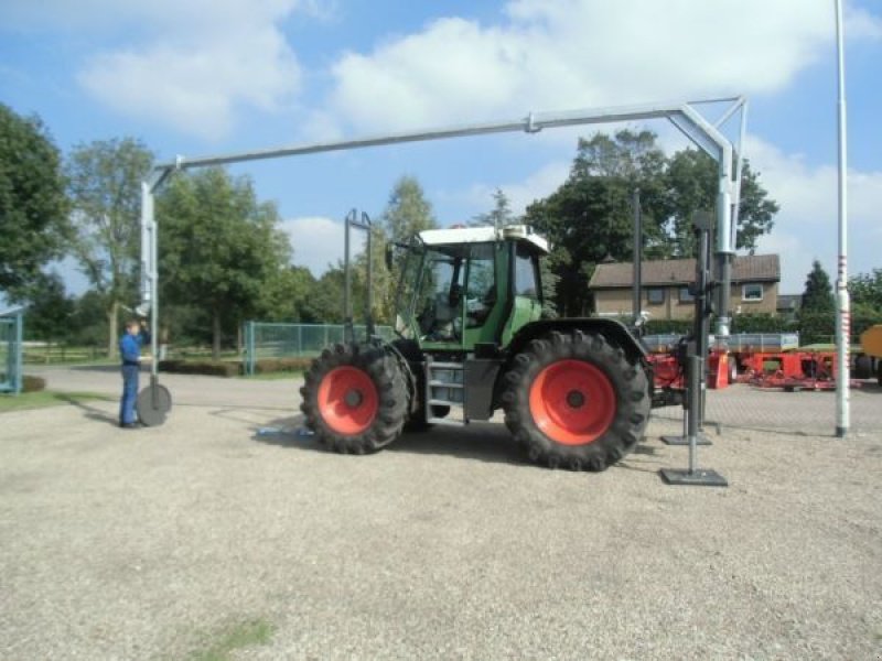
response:
[[[456,247],[461,251],[461,247]],[[429,250],[417,294],[420,335],[430,342],[454,342],[462,330],[462,281],[465,260],[458,250]]]

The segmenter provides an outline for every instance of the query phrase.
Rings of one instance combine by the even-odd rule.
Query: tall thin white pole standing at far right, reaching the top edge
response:
[[[846,55],[843,50],[842,0],[836,0],[837,119],[839,140],[839,260],[836,278],[836,435],[849,427],[849,343],[851,301],[848,294],[848,154],[846,134]]]

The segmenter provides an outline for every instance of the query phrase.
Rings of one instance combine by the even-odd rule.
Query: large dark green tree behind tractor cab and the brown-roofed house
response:
[[[553,297],[560,313],[590,312],[588,282],[600,261],[632,259],[635,189],[641,193],[645,258],[691,257],[691,218],[696,210],[714,207],[716,173],[713,160],[695,150],[667,158],[650,131],[580,139],[567,181],[527,207],[525,217],[555,247],[550,262],[560,278]],[[745,163],[739,247],[753,249],[776,212],[777,204],[766,198]]]

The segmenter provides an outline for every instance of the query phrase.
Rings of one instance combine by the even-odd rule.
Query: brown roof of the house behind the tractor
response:
[[[642,264],[644,285],[687,284],[696,279],[695,259],[666,259]],[[589,289],[631,286],[632,262],[601,263],[588,283]],[[781,263],[777,254],[736,254],[732,261],[732,282],[778,282]]]

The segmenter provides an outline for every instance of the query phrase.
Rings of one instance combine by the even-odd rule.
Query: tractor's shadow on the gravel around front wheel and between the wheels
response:
[[[280,418],[256,430],[254,440],[267,445],[312,452],[327,452],[309,434],[302,415]],[[437,426],[426,432],[407,432],[383,452],[453,456],[496,464],[529,463],[503,425],[472,424],[467,427]]]

